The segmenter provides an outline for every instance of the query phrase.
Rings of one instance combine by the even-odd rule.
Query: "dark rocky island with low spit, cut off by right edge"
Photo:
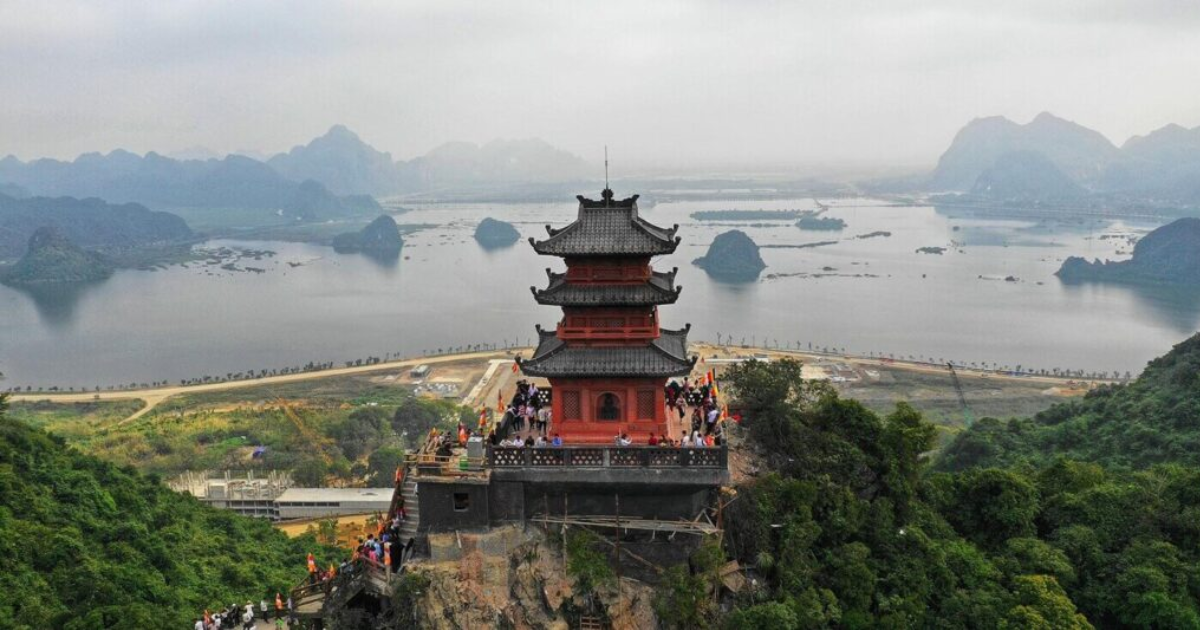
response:
[[[1072,256],[1055,274],[1063,281],[1145,284],[1200,284],[1200,218],[1180,218],[1133,247],[1129,260],[1093,260]]]

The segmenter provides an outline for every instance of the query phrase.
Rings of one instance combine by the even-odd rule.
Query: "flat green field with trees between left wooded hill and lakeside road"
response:
[[[121,422],[140,407],[140,401],[14,403],[12,415],[149,473],[293,470],[312,485],[371,481],[372,472],[394,469],[403,449],[432,426],[474,419],[454,402],[416,398],[368,376],[178,396]],[[259,448],[265,450],[256,456]]]

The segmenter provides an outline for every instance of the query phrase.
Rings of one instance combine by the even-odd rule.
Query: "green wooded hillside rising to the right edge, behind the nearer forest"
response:
[[[1105,466],[1200,467],[1200,335],[1151,361],[1128,385],[1092,390],[1032,419],[984,419],[938,457],[943,470],[1044,464],[1064,456]]]

